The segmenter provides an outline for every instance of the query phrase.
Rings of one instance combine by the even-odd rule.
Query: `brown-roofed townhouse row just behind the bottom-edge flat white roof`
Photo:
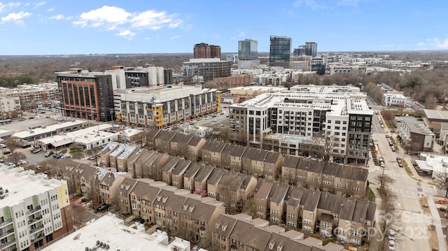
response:
[[[193,243],[211,239],[211,222],[225,213],[224,203],[154,180],[125,178],[118,185],[120,212],[157,224]]]

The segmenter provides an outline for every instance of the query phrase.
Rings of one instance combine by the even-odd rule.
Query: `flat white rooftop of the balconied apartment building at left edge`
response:
[[[50,191],[66,183],[65,180],[47,180],[45,174],[23,171],[22,167],[8,168],[0,164],[0,187],[8,189],[4,199],[0,199],[0,208],[17,205],[24,199]]]

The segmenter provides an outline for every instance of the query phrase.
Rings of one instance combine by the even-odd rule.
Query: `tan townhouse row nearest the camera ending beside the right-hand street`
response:
[[[257,217],[272,224],[360,245],[370,241],[376,204],[263,181],[255,190],[255,210]]]

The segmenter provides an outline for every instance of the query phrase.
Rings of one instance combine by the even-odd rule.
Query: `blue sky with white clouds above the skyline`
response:
[[[1,1],[1,0],[0,0]],[[447,50],[448,1],[1,1],[0,55],[237,52],[239,40],[307,41],[318,51]]]

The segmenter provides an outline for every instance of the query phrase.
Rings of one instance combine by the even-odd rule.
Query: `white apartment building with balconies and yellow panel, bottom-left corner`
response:
[[[47,179],[47,175],[3,164],[0,174],[2,250],[36,250],[71,231],[65,180]]]

